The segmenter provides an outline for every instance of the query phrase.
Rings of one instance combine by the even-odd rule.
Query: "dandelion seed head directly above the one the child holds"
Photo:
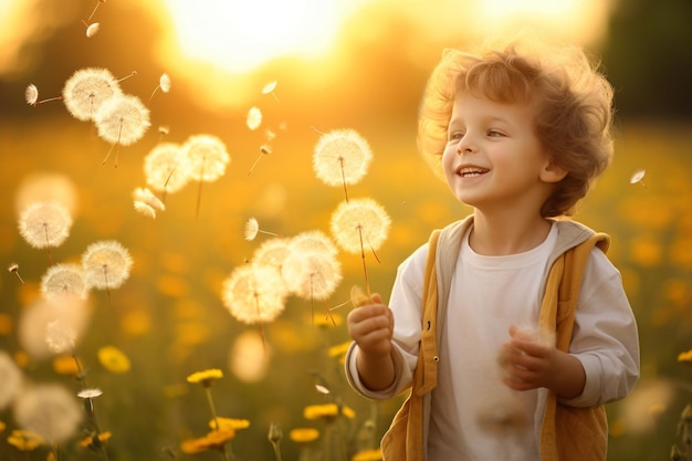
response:
[[[366,175],[373,150],[353,129],[335,129],[319,137],[313,154],[317,178],[327,186],[355,185]]]

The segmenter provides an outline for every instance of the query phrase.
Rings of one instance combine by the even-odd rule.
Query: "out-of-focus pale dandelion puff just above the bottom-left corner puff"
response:
[[[25,306],[19,316],[17,323],[19,343],[33,359],[48,358],[55,354],[46,342],[49,325],[60,321],[51,328],[60,326],[64,331],[73,332],[76,344],[90,324],[91,313],[88,300],[78,296],[63,296],[60,300],[40,297]]]

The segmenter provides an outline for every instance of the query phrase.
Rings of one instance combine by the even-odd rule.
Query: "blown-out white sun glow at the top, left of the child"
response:
[[[365,1],[165,0],[180,51],[234,73],[277,56],[325,54]]]

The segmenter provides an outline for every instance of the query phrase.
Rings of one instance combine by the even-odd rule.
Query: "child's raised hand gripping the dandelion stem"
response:
[[[356,300],[354,300],[356,301]],[[391,353],[394,316],[382,304],[379,294],[373,294],[369,302],[357,300],[359,307],[348,314],[348,334],[358,344],[360,353],[371,357],[385,357]]]

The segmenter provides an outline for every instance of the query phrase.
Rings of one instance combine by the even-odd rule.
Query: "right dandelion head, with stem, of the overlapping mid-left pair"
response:
[[[199,216],[202,182],[216,181],[223,176],[231,157],[226,150],[223,142],[211,135],[190,136],[182,145],[182,153],[186,171],[188,171],[191,179],[199,181],[197,209],[195,212],[195,216]]]

